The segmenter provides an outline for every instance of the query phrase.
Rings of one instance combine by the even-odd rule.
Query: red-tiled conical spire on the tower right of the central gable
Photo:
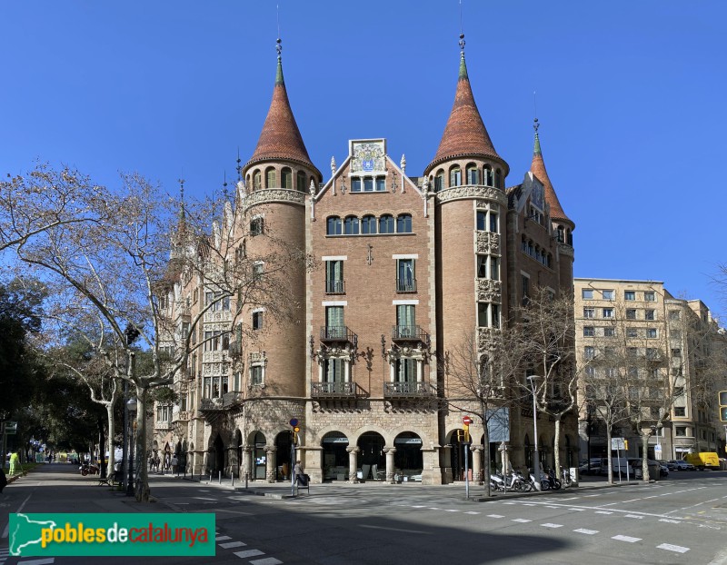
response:
[[[444,128],[439,149],[437,149],[437,153],[434,155],[432,163],[426,168],[425,173],[448,159],[477,156],[495,158],[501,161],[506,174],[508,166],[495,151],[490,135],[484,127],[483,118],[477,109],[477,104],[474,102],[472,86],[467,74],[467,65],[464,62],[464,34],[460,34],[459,45],[460,68],[452,112]]]

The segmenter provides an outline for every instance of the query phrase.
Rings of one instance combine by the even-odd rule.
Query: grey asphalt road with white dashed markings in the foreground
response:
[[[612,488],[584,484],[486,501],[481,486],[473,486],[472,499],[465,501],[461,485],[325,484],[294,499],[276,499],[156,477],[152,493],[158,501],[140,508],[95,486],[91,477],[50,465],[0,495],[0,565],[98,563],[98,558],[6,557],[7,513],[21,505],[24,512],[215,513],[214,558],[134,558],[134,565],[727,563],[727,472],[677,471],[665,481]]]

